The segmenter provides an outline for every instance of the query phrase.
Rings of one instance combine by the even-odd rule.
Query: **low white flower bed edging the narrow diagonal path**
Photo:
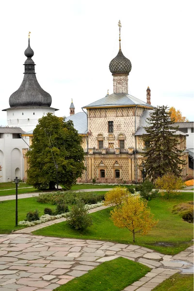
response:
[[[98,202],[96,204],[86,204],[85,207],[90,210],[90,209],[93,209],[93,208],[97,208],[99,206],[102,206],[104,204],[104,202]],[[68,213],[68,212],[66,212]],[[42,223],[45,223],[47,221],[51,221],[51,220],[55,220],[55,219],[59,219],[59,218],[62,218],[62,217],[65,217],[66,216],[66,213],[62,213],[62,214],[58,214],[58,215],[49,215],[49,214],[45,214],[45,215],[42,215],[40,216],[40,219],[39,220],[34,220],[34,221],[20,221],[18,223],[19,226],[35,226],[35,225],[38,225],[38,224],[42,224]]]

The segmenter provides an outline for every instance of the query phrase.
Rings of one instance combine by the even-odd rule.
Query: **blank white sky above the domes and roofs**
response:
[[[36,77],[58,116],[113,93],[110,61],[121,48],[132,64],[129,93],[179,109],[193,121],[193,0],[6,0],[1,2],[0,124],[22,80],[31,31]]]

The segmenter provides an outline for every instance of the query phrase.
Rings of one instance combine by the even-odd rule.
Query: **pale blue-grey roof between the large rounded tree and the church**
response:
[[[65,121],[72,120],[74,128],[78,130],[79,134],[86,134],[87,129],[87,115],[84,112],[78,112],[71,116],[66,117]]]

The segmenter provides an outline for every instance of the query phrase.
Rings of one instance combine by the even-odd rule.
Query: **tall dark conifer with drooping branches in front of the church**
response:
[[[167,106],[158,106],[146,120],[148,126],[143,136],[146,144],[146,173],[152,180],[168,172],[179,176],[180,165],[185,164],[180,157],[182,150],[179,149],[179,137],[176,135],[178,127],[172,126],[174,120],[170,117]]]

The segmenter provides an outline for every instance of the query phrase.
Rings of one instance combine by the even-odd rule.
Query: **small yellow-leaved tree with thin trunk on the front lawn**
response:
[[[115,207],[111,211],[114,225],[120,228],[126,227],[132,232],[133,242],[135,242],[136,233],[145,235],[158,223],[153,217],[154,214],[150,212],[147,201],[142,199],[140,195],[129,194],[120,207]]]

